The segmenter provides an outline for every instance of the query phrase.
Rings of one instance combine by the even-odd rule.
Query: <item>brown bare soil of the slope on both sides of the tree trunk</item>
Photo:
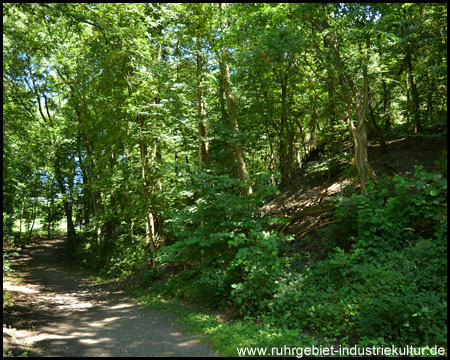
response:
[[[442,152],[446,149],[446,128],[439,128],[431,129],[421,136],[387,141],[384,152],[378,144],[369,143],[368,158],[379,178],[411,177],[418,165],[422,165],[428,172],[439,172],[436,161],[442,160]],[[345,152],[351,159],[351,144],[348,144]],[[333,221],[331,211],[320,212],[320,209],[326,210],[327,198],[330,196],[349,196],[352,192],[358,192],[359,183],[351,176],[352,171],[356,174],[351,163],[340,162],[330,173],[328,169],[320,168],[321,165],[326,165],[326,154],[323,151],[317,149],[311,155],[302,168],[294,173],[289,183],[285,184],[281,193],[262,207],[261,212],[263,215],[295,219],[282,229],[295,238],[292,251],[308,253],[310,260],[318,260],[325,258],[329,249],[323,245],[322,237],[315,230]],[[312,216],[297,216],[313,209]]]

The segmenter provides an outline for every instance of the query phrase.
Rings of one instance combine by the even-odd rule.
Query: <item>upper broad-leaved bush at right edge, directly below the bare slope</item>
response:
[[[375,256],[434,234],[447,211],[447,180],[422,169],[417,167],[411,178],[373,182],[368,196],[342,198],[328,246],[354,246]]]

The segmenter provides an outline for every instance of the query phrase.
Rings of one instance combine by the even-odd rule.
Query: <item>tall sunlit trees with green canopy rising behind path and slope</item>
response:
[[[443,3],[5,3],[3,30],[5,233],[64,218],[73,256],[208,272],[243,314],[286,266],[260,207],[308,156],[351,144],[367,195],[369,141],[446,123]]]

